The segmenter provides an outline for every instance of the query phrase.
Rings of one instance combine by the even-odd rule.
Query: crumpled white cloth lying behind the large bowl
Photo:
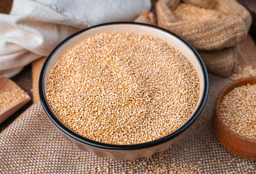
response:
[[[14,0],[10,14],[0,13],[0,75],[13,77],[76,31],[150,8],[150,0]]]

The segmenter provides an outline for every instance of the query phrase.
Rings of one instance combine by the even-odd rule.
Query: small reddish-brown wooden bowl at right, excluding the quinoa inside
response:
[[[216,137],[227,150],[241,158],[256,161],[256,140],[249,139],[231,130],[222,121],[219,112],[222,98],[229,93],[230,90],[246,84],[256,84],[256,77],[238,79],[228,84],[220,91],[215,102],[213,124]]]

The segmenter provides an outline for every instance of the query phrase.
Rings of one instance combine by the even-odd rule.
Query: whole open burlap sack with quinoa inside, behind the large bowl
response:
[[[158,26],[188,41],[211,73],[231,75],[236,45],[252,23],[245,7],[236,0],[159,0],[156,13]]]

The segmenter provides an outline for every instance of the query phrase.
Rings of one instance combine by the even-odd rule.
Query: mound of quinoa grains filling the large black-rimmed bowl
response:
[[[78,134],[136,144],[170,134],[191,116],[199,79],[186,57],[163,40],[105,32],[67,50],[49,72],[46,95]]]

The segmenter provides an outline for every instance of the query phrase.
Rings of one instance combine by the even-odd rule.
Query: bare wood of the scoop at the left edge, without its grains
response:
[[[14,81],[11,79],[7,79],[5,77],[0,76],[0,90],[4,89],[13,89],[13,88],[20,88]],[[22,106],[24,106],[27,102],[31,100],[31,97],[26,93],[26,97],[24,99],[21,99],[17,101],[16,103],[12,104],[11,106],[8,106],[4,110],[0,111],[0,124],[6,120],[8,117],[13,115],[14,112],[19,110]]]

